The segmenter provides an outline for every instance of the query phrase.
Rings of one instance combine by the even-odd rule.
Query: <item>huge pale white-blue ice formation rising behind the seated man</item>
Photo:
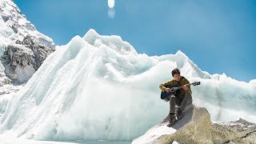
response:
[[[202,71],[176,54],[138,54],[119,36],[89,30],[59,46],[22,90],[1,107],[1,133],[39,140],[132,140],[166,117],[159,84],[178,67],[190,82],[194,104],[213,121],[256,122],[256,80],[238,82]],[[0,105],[1,106],[1,105]]]

